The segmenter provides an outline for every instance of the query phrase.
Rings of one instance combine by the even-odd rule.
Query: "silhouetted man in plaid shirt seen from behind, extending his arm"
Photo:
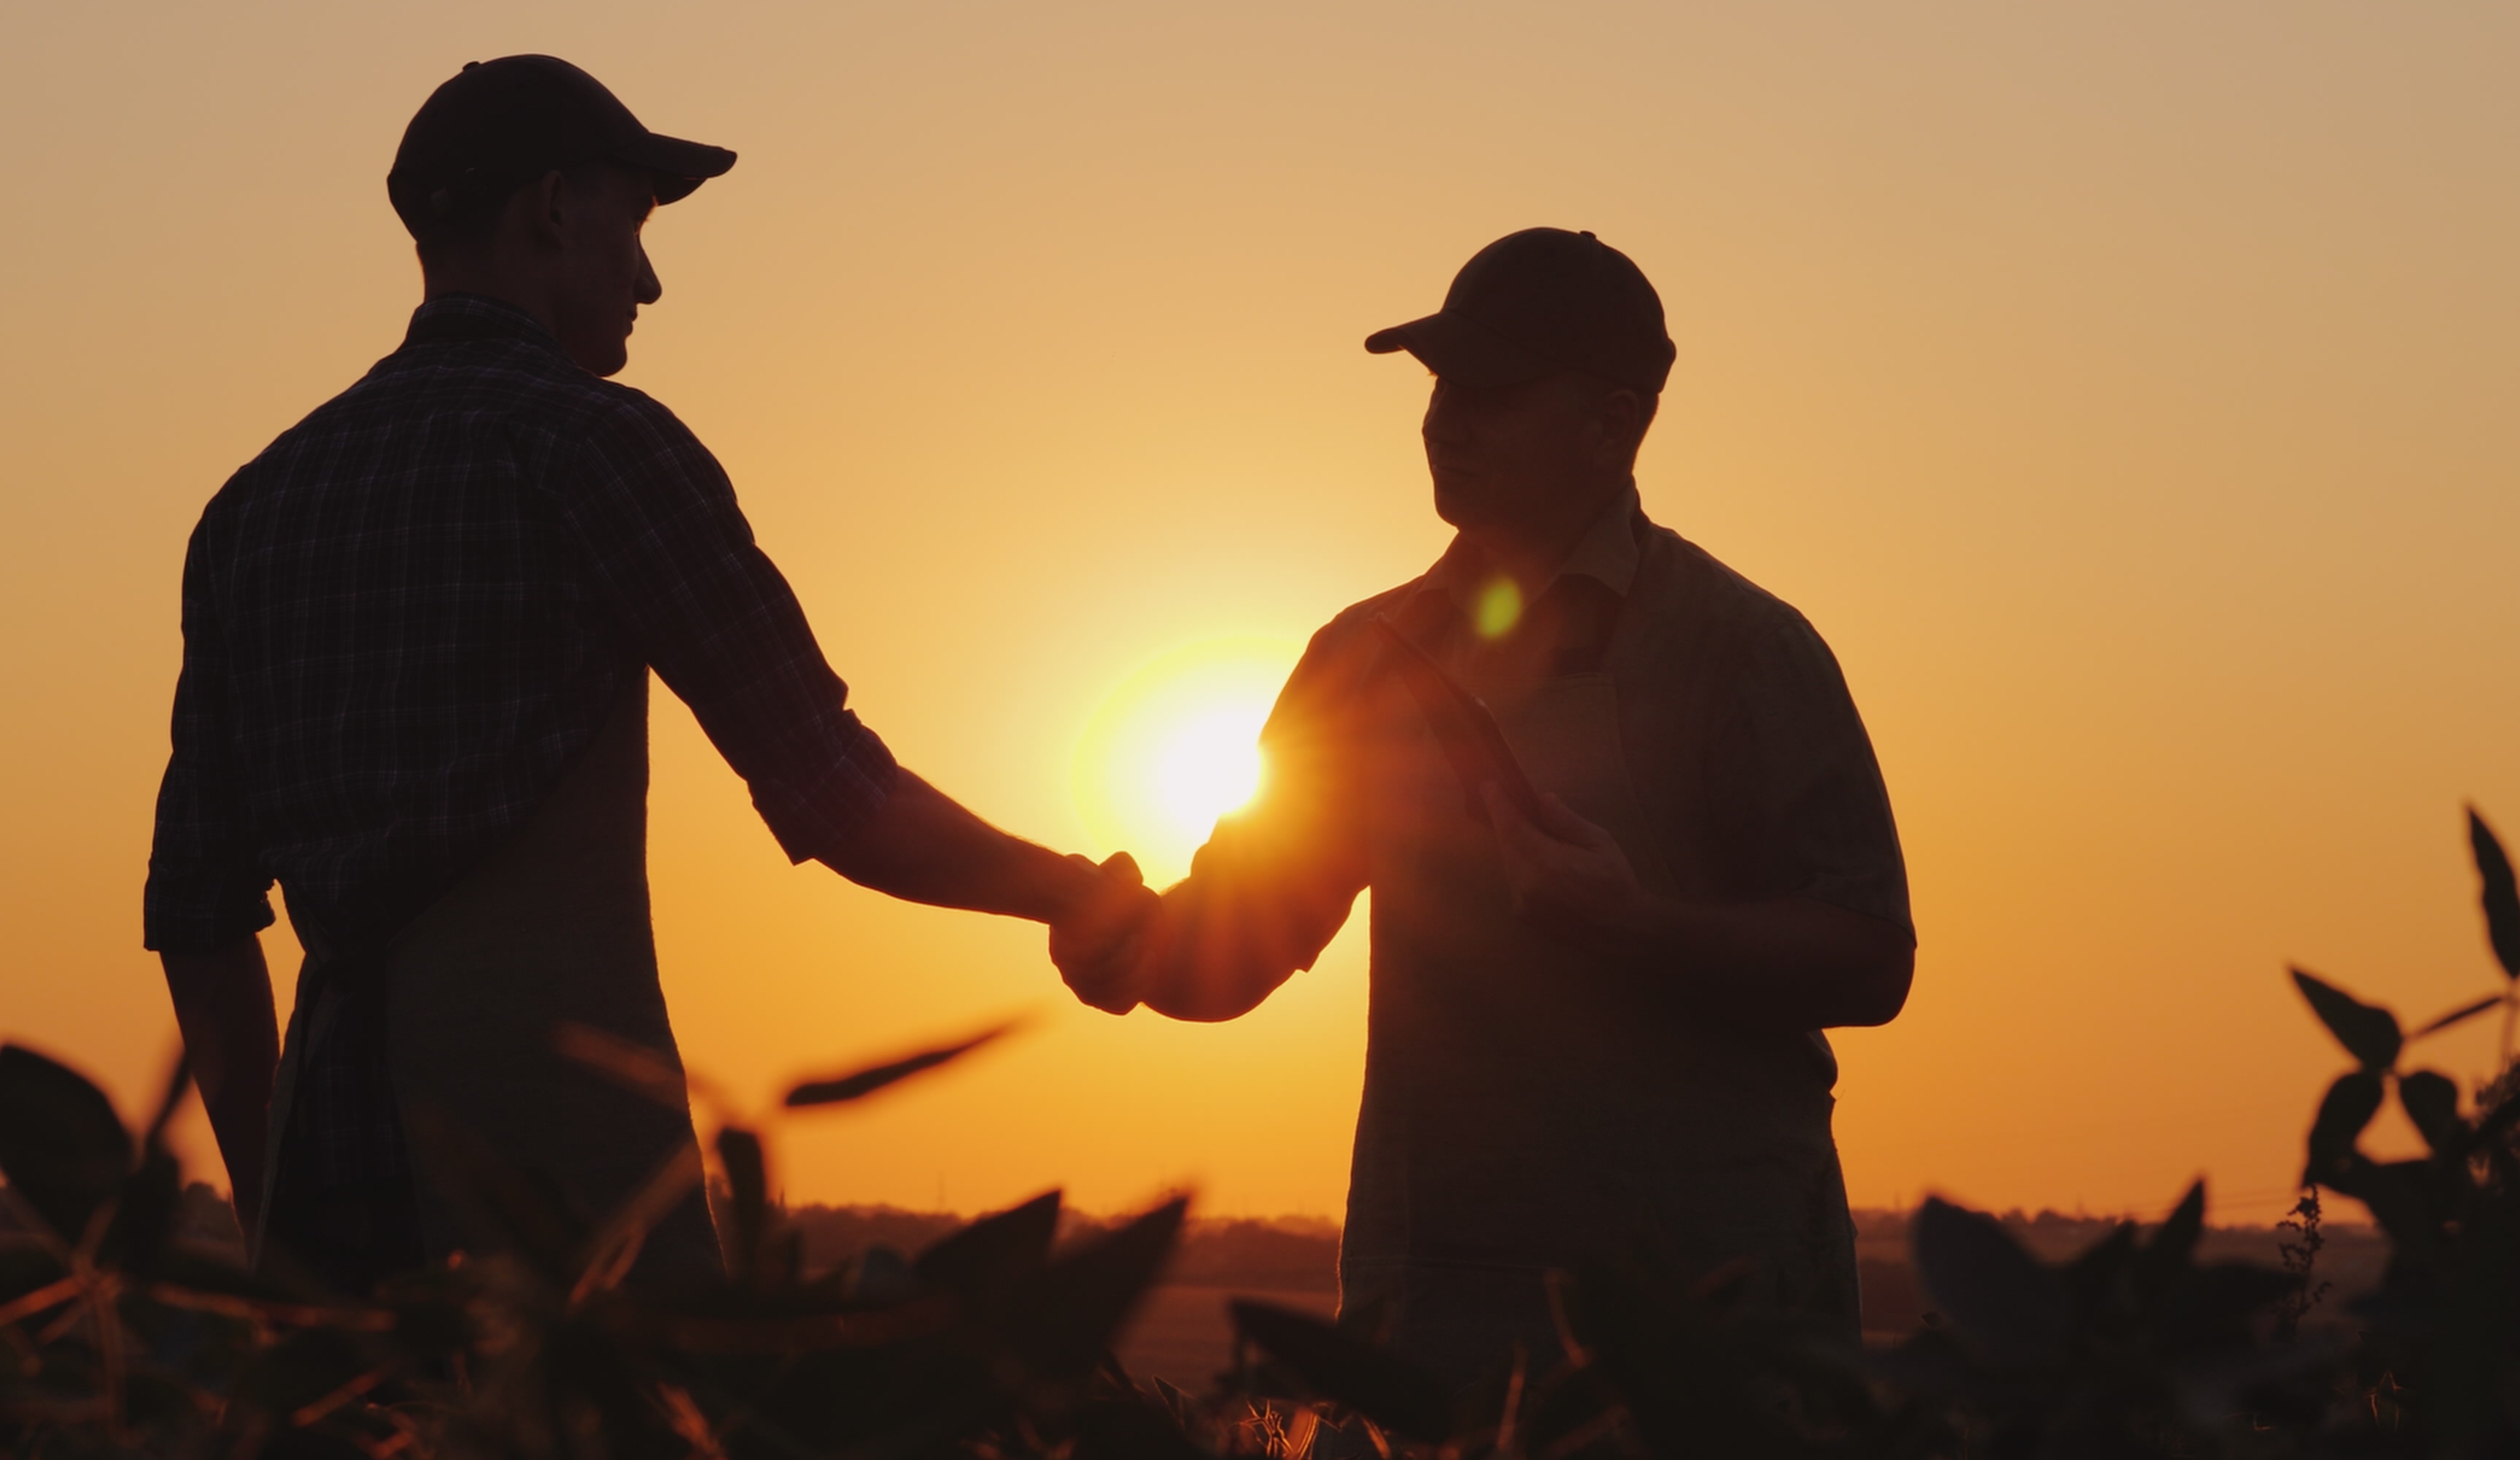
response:
[[[605,381],[663,293],[650,209],[733,161],[564,61],[466,66],[386,179],[426,295],[403,345],[194,530],[146,943],[257,1251],[345,1289],[496,1241],[466,1205],[484,1147],[592,1223],[690,1140],[688,1109],[552,1046],[575,1021],[673,1059],[650,668],[796,862],[1048,923],[1068,961],[1152,910],[1124,857],[1058,857],[900,769],[718,461]],[[285,1049],[275,880],[307,948]],[[693,1195],[640,1273],[711,1271]]]

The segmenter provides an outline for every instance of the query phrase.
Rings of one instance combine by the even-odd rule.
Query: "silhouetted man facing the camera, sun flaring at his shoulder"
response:
[[[1741,1263],[1754,1301],[1852,1334],[1819,1029],[1898,1014],[1908,883],[1827,646],[1638,507],[1661,298],[1593,235],[1527,229],[1366,348],[1434,371],[1459,535],[1313,635],[1255,804],[1068,983],[1235,1019],[1373,888],[1343,1304],[1386,1299],[1396,1347],[1469,1382],[1557,1349],[1547,1268],[1643,1248]],[[1492,709],[1527,809],[1477,736],[1439,734],[1419,653]]]

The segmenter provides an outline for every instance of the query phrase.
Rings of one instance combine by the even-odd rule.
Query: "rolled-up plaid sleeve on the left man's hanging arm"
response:
[[[184,552],[184,668],[174,681],[174,754],[159,782],[141,941],[207,953],[272,925],[262,865],[232,764],[227,646],[209,585],[207,524]]]

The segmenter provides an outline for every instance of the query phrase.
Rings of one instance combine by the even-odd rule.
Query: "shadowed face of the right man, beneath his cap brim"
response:
[[[1575,376],[1492,388],[1436,376],[1421,434],[1434,512],[1464,530],[1540,530],[1600,477],[1600,398]]]

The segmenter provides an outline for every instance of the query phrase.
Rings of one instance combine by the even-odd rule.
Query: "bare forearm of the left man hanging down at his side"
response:
[[[192,1079],[219,1140],[219,1160],[227,1162],[237,1218],[252,1231],[262,1200],[272,1077],[280,1069],[280,1024],[262,941],[247,936],[212,953],[161,953],[159,961],[192,1057]]]

